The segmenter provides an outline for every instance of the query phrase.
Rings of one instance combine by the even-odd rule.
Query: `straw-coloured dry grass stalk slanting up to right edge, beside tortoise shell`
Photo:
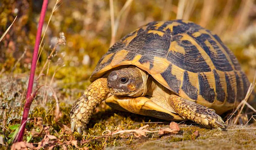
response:
[[[237,112],[237,110],[241,107],[240,111],[238,112],[237,114],[237,117],[235,118],[235,121],[233,122],[233,124],[236,124],[240,114],[242,113],[242,110],[245,106],[245,102],[247,102],[247,100],[249,99],[254,87],[256,85],[256,71],[255,71],[255,74],[254,74],[254,79],[253,79],[253,82],[250,84],[249,86],[249,89],[247,90],[247,93],[245,95],[245,98],[240,102],[240,104],[237,106],[236,110],[232,113],[232,115],[227,119],[227,122],[231,119],[231,117]]]

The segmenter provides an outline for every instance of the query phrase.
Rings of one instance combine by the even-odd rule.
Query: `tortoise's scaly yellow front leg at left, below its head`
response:
[[[109,94],[107,78],[99,78],[87,87],[83,95],[71,107],[71,130],[77,129],[79,133],[86,132],[87,124],[91,119],[94,109]]]

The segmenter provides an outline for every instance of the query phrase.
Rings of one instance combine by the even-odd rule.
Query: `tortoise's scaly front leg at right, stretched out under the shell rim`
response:
[[[227,127],[222,118],[215,113],[214,109],[173,94],[170,95],[168,101],[180,116],[195,121],[206,128],[216,128],[221,131]]]

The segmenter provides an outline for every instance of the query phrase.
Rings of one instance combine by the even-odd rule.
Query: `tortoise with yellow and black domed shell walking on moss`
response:
[[[90,81],[71,108],[72,132],[86,132],[103,100],[117,110],[222,130],[219,115],[237,106],[250,84],[220,37],[187,20],[153,21],[127,34]]]

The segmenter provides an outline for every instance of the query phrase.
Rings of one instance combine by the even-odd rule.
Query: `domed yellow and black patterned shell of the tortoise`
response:
[[[137,66],[179,96],[223,111],[239,104],[250,85],[219,36],[184,20],[153,21],[124,36],[90,80],[122,65]]]

